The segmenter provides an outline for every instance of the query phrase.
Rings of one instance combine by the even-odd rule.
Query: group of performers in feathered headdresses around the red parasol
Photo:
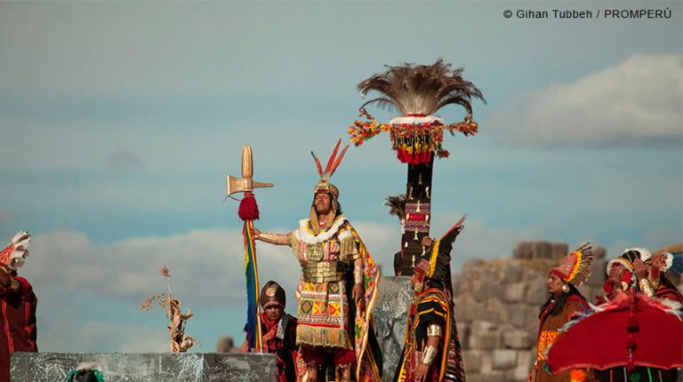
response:
[[[680,257],[677,260],[680,260]],[[604,294],[596,296],[595,305],[591,306],[577,289],[590,275],[590,245],[584,245],[566,256],[553,268],[548,276],[550,297],[541,306],[539,314],[539,330],[537,340],[536,361],[529,373],[529,381],[566,381],[566,382],[639,382],[639,381],[676,381],[678,370],[658,369],[655,367],[628,365],[605,368],[572,368],[558,373],[549,372],[549,350],[563,333],[569,333],[574,322],[590,317],[591,314],[628,306],[626,296],[639,298],[655,298],[662,309],[681,320],[683,296],[665,274],[673,270],[674,256],[669,252],[652,255],[642,248],[623,251],[623,254],[607,263],[607,281],[603,284]],[[680,261],[676,261],[680,263]],[[679,264],[677,264],[679,267]],[[679,274],[680,269],[676,269]],[[616,323],[616,322],[615,322]],[[656,322],[652,322],[656,325]],[[628,325],[631,325],[630,323]],[[622,337],[628,334],[623,332]],[[669,349],[671,353],[683,354],[683,338],[661,339],[660,347]],[[591,346],[591,344],[582,344]],[[578,347],[578,344],[577,344]],[[599,346],[598,346],[599,347]],[[635,349],[635,344],[632,345]],[[579,349],[575,349],[579,351]],[[641,349],[641,352],[644,352]],[[584,362],[590,366],[591,362]],[[678,364],[683,360],[678,360]],[[602,369],[602,370],[600,370]]]

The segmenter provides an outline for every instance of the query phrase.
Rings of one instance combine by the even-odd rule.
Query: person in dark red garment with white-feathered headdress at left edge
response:
[[[37,352],[36,294],[18,275],[28,256],[31,236],[20,232],[0,251],[0,381],[10,380],[10,354]]]

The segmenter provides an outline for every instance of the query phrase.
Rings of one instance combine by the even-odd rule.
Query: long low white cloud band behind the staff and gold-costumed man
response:
[[[455,220],[439,218],[432,232],[445,232]],[[376,261],[384,265],[384,274],[391,275],[400,240],[398,224],[358,221],[354,226]],[[466,258],[499,257],[509,254],[514,242],[530,232],[487,227],[484,221],[471,219],[455,250]],[[50,298],[88,291],[139,304],[149,295],[165,291],[165,281],[158,275],[165,265],[171,272],[173,294],[186,307],[238,306],[244,301],[244,248],[239,230],[205,229],[93,243],[82,233],[62,229],[35,235],[31,246],[22,274]],[[259,242],[257,253],[261,282],[273,279],[283,283],[288,294],[293,291],[300,268],[291,251]]]

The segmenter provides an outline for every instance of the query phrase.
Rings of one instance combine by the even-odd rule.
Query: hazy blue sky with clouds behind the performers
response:
[[[648,9],[671,17],[605,18]],[[518,17],[529,10],[550,17]],[[441,58],[486,98],[478,134],[446,136],[435,164],[432,235],[468,214],[455,270],[524,240],[612,257],[683,242],[682,17],[680,2],[0,2],[0,241],[34,237],[20,274],[39,299],[40,350],[167,351],[164,315],[139,308],[165,291],[163,266],[195,314],[193,351],[241,342],[226,174],[251,145],[254,179],[276,185],[256,192],[256,227],[293,230],[317,183],[309,152],[349,143],[355,86],[385,65]],[[383,202],[405,192],[406,165],[389,137],[351,147],[333,183],[390,275],[400,232]],[[295,314],[296,260],[257,253]]]

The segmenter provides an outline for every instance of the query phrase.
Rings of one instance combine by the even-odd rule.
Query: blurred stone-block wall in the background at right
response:
[[[454,315],[468,381],[526,381],[534,362],[538,312],[546,280],[566,243],[518,243],[513,257],[470,259],[454,275]],[[580,289],[593,301],[605,282],[605,249],[594,250],[592,275]]]

